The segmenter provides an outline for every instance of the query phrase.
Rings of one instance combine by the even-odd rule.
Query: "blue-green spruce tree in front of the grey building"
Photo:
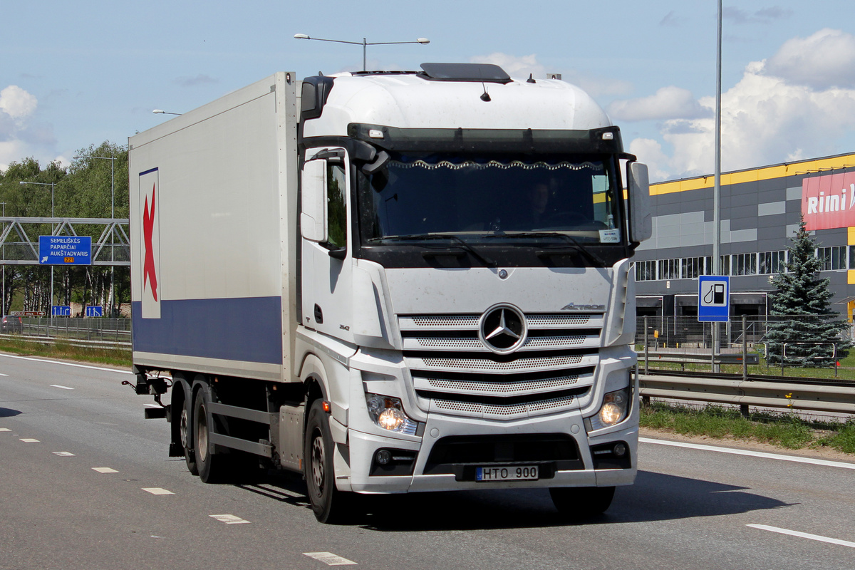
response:
[[[852,347],[846,332],[849,323],[831,309],[833,293],[829,279],[819,279],[823,261],[817,258],[817,244],[805,231],[805,220],[793,236],[787,250],[786,271],[772,278],[775,294],[772,299],[767,338],[770,364],[780,364],[782,347],[787,344],[787,366],[834,366],[829,343],[837,344],[837,358],[844,358]],[[799,343],[799,344],[795,344]]]

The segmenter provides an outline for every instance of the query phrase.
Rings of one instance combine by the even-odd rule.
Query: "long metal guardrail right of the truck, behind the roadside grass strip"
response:
[[[855,414],[855,386],[852,385],[650,374],[640,374],[639,385],[643,398]]]

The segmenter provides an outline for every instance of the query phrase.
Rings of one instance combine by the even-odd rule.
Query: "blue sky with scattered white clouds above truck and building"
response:
[[[716,2],[0,3],[0,170],[134,132],[275,71],[495,62],[586,89],[652,179],[713,168]],[[722,169],[855,152],[852,2],[724,3]]]

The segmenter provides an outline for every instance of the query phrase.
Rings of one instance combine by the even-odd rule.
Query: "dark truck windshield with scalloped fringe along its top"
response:
[[[442,234],[621,244],[609,156],[392,156],[359,188],[363,241]]]

